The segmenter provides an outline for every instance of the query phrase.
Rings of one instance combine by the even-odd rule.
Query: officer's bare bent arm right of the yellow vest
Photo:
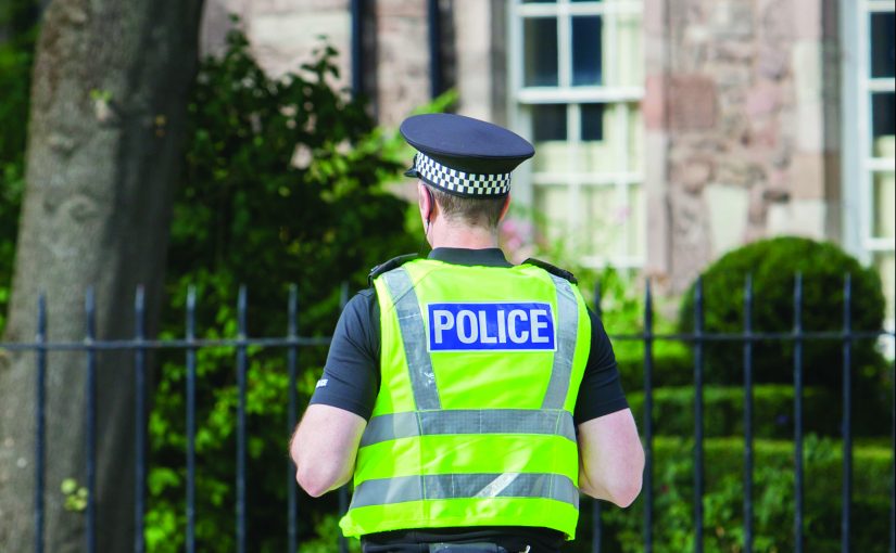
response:
[[[644,450],[630,409],[579,425],[579,488],[589,496],[631,505],[641,492]]]

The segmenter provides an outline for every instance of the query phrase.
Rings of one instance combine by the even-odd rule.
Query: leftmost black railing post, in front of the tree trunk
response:
[[[47,453],[47,298],[37,298],[37,383],[35,386],[35,552],[43,553],[43,488]]]

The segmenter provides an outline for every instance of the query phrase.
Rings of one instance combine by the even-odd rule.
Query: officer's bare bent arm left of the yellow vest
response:
[[[351,411],[308,406],[289,445],[299,486],[317,498],[348,483],[366,426],[367,421]]]

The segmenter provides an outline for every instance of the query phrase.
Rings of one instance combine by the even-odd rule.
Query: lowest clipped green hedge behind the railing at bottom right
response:
[[[743,440],[704,442],[704,545],[707,552],[743,550]],[[807,437],[805,454],[806,551],[840,551],[842,485],[840,441]],[[794,549],[793,443],[755,443],[754,550]],[[693,551],[693,440],[654,441],[654,551]],[[886,445],[854,449],[853,551],[886,551],[893,452]],[[588,502],[585,502],[588,503]],[[627,509],[604,504],[604,551],[643,551],[644,493]],[[577,551],[588,551],[590,530],[580,522]]]

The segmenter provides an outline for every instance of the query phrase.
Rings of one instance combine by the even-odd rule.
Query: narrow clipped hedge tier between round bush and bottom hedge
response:
[[[639,425],[643,425],[644,393],[627,394],[629,406]],[[744,435],[743,387],[707,386],[704,388],[704,434],[710,436]],[[804,432],[833,436],[840,430],[842,414],[830,406],[831,391],[806,388],[803,394]],[[753,396],[753,432],[757,438],[791,439],[794,394],[792,386],[766,384],[756,386]],[[694,387],[666,387],[654,390],[654,434],[666,436],[694,435]],[[643,428],[642,428],[643,432]]]

